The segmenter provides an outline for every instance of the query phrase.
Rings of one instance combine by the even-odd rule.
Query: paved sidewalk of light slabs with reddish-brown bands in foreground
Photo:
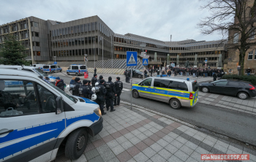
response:
[[[256,161],[256,150],[198,131],[173,117],[143,107],[130,109],[121,101],[115,112],[103,115],[103,129],[89,139],[78,161],[201,161],[201,154],[249,154]],[[70,162],[64,155],[56,162]]]

